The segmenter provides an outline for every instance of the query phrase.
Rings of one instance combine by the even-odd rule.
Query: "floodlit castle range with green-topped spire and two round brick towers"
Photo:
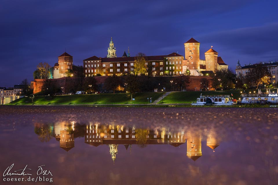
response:
[[[228,69],[217,51],[212,48],[205,53],[205,60],[200,59],[200,42],[194,38],[184,43],[185,58],[178,53],[160,56],[145,56],[146,66],[152,64],[152,76],[180,75],[190,71],[190,75],[203,76],[215,70]],[[124,51],[122,57],[117,57],[116,48],[111,37],[106,58],[92,56],[83,60],[85,77],[102,75],[127,75],[133,73],[136,56],[131,57]],[[145,74],[150,75],[150,74]]]

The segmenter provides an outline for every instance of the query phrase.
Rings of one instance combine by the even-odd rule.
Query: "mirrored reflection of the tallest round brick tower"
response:
[[[202,156],[201,136],[191,136],[187,139],[187,152],[186,156],[192,160],[197,160]]]

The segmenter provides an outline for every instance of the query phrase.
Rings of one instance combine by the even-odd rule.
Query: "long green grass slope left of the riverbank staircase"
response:
[[[59,96],[36,96],[34,98],[34,104],[143,104],[148,103],[147,98],[152,97],[153,101],[158,99],[162,95],[162,92],[149,92],[149,93],[136,93],[131,101],[131,97],[127,97],[127,94],[93,94],[93,95],[59,95]],[[7,105],[31,105],[32,100],[28,97],[23,97],[8,103]]]

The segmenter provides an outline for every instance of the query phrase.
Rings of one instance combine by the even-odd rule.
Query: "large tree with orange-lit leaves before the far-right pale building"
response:
[[[266,66],[263,66],[262,63],[258,63],[254,64],[254,67],[250,69],[250,72],[248,72],[245,77],[247,84],[258,88],[260,84],[269,84],[268,77],[270,77],[270,73]]]

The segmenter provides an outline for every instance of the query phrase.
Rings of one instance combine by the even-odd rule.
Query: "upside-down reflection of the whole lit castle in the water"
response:
[[[145,147],[147,145],[172,145],[179,147],[186,143],[186,156],[197,160],[202,156],[202,136],[198,132],[189,132],[185,129],[169,129],[167,127],[136,128],[135,125],[117,125],[89,123],[87,125],[76,124],[75,121],[35,124],[35,133],[42,142],[55,137],[60,142],[60,147],[65,151],[74,148],[74,138],[84,137],[85,143],[98,147],[108,145],[111,158],[115,164],[118,146],[124,145],[131,153],[132,145]],[[206,145],[213,152],[220,145],[221,138],[217,137],[213,130],[206,132]],[[108,151],[108,150],[107,150]]]

